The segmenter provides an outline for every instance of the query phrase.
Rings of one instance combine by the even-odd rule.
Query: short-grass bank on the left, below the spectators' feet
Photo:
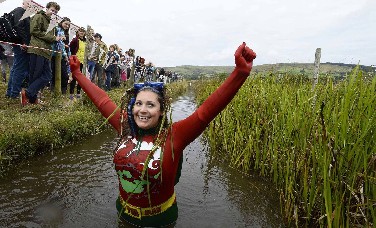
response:
[[[36,154],[52,152],[73,144],[90,134],[105,121],[88,99],[70,100],[68,96],[52,98],[49,91],[47,105],[29,105],[21,108],[19,100],[4,97],[7,84],[0,84],[0,177],[17,173]],[[186,91],[185,82],[167,85],[178,96]],[[115,104],[120,104],[124,88],[108,92]],[[47,95],[48,94],[48,95]],[[109,128],[106,124],[101,129]]]

